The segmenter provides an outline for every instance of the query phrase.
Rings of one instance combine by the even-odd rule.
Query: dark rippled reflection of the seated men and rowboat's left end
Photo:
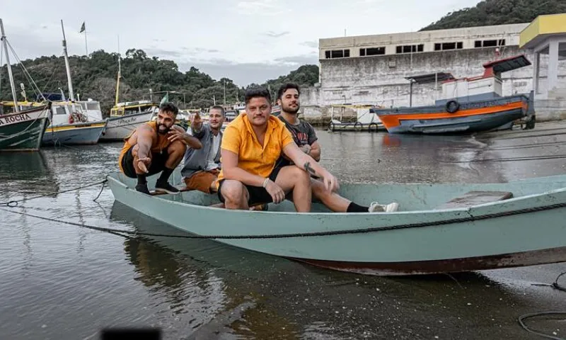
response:
[[[112,205],[110,219],[134,225],[139,232],[183,234],[122,203]],[[274,263],[301,266],[298,263],[204,239],[128,238],[124,244],[127,259],[138,273],[136,280],[155,294],[167,295],[175,314],[186,313],[184,306],[189,303],[194,309],[195,300],[202,303],[203,310],[216,304],[216,313],[208,320],[192,320],[195,334],[190,339],[207,339],[218,332],[243,339],[269,339],[299,331],[272,306],[264,305],[265,292],[256,290],[258,279],[270,282],[270,276],[279,275],[270,273]]]

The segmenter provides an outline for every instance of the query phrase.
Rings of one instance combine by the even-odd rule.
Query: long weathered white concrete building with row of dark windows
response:
[[[524,52],[519,50],[519,37],[527,26],[320,39],[320,82],[303,91],[304,114],[320,117],[327,113],[326,106],[340,103],[409,106],[410,81],[405,77],[434,72],[456,78],[479,76],[486,62]],[[526,57],[533,62],[532,54]],[[532,75],[532,66],[502,74],[503,95],[529,93]],[[415,85],[412,106],[430,105],[442,97],[441,84]]]

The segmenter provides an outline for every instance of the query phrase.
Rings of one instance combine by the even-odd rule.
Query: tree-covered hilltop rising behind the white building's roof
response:
[[[485,0],[443,16],[421,30],[530,23],[543,14],[566,13],[565,0]]]

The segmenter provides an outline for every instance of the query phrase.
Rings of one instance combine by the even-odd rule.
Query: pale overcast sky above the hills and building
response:
[[[245,86],[316,64],[318,39],[416,31],[479,0],[1,0],[8,41],[21,60],[129,48],[195,66]],[[11,60],[14,62],[13,60]],[[5,62],[5,58],[4,58]],[[32,74],[33,76],[33,74]]]

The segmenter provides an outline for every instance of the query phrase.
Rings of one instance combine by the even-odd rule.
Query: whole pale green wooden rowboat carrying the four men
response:
[[[209,207],[219,203],[214,194],[147,196],[135,191],[135,179],[107,179],[115,200],[185,232],[340,271],[413,275],[566,261],[566,175],[341,185],[341,195],[356,202],[400,203],[390,213],[337,213],[318,203],[297,213],[289,201],[267,211],[226,210]],[[173,183],[180,183],[178,171]]]

